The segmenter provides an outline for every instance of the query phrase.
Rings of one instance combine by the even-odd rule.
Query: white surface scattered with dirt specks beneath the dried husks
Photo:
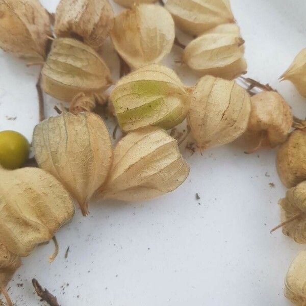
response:
[[[42,1],[51,11],[57,2]],[[291,83],[277,79],[306,46],[306,2],[232,0],[232,7],[246,41],[247,75],[276,87],[294,114],[305,117],[305,99]],[[116,70],[115,56],[110,60],[107,54],[110,45],[104,55]],[[173,64],[179,55],[174,47],[166,62],[192,85],[195,76]],[[38,120],[39,69],[3,52],[0,67],[0,130],[17,130],[31,140]],[[55,103],[46,98],[49,110]],[[36,277],[54,290],[62,306],[289,305],[283,279],[303,246],[281,231],[269,234],[279,222],[277,200],[285,194],[275,171],[275,150],[246,156],[244,149],[235,143],[203,156],[183,150],[191,172],[173,193],[142,203],[96,203],[87,218],[77,210],[57,235],[60,253],[53,264],[47,262],[51,243],[23,260],[9,285],[12,299],[17,306],[41,304],[31,284]]]

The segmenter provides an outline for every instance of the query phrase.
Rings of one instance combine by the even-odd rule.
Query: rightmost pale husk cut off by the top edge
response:
[[[202,34],[218,24],[235,22],[228,0],[168,0],[165,7],[175,25],[191,35]]]

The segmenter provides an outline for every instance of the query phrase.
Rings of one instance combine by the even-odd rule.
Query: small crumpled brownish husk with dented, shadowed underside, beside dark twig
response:
[[[286,141],[292,126],[292,112],[285,99],[275,91],[262,91],[251,97],[251,114],[246,134],[275,147]]]

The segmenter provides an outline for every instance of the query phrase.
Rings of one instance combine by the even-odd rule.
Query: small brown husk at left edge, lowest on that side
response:
[[[0,243],[0,287],[7,286],[20,265],[20,257],[11,253],[4,244]]]

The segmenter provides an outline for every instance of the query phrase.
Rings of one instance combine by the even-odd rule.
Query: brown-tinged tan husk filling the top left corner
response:
[[[0,0],[0,48],[29,62],[43,62],[50,19],[38,0]]]

